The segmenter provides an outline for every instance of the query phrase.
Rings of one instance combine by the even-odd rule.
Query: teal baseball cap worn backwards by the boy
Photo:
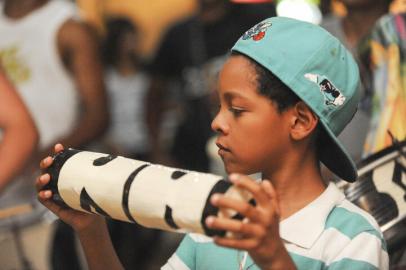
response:
[[[319,160],[355,181],[355,163],[337,139],[360,99],[358,66],[344,45],[318,25],[273,17],[245,32],[231,50],[272,72],[313,110],[322,126]]]

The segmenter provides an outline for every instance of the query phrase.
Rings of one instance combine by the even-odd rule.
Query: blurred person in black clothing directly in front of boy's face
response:
[[[228,0],[198,4],[196,14],[170,27],[155,54],[146,116],[152,161],[206,172],[217,73],[241,32],[274,15],[275,9],[273,4]],[[165,118],[167,112],[171,114]]]

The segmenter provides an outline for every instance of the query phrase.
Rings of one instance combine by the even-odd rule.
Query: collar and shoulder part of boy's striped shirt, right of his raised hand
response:
[[[281,237],[303,269],[332,265],[334,269],[367,269],[370,265],[375,268],[368,269],[387,269],[386,242],[377,222],[335,184],[288,219],[280,227]]]

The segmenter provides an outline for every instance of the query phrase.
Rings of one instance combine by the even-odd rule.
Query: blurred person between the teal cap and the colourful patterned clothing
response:
[[[375,22],[389,10],[391,0],[340,0],[346,15],[323,18],[321,26],[337,37],[354,55],[361,73],[361,101],[354,120],[340,135],[355,161],[360,161],[371,117],[372,78],[369,71],[369,34]]]

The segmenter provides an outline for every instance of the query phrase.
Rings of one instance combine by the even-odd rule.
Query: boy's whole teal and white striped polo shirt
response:
[[[376,221],[332,183],[313,202],[281,221],[279,230],[297,269],[389,268]],[[161,270],[259,269],[245,253],[219,247],[203,235],[187,234]]]

